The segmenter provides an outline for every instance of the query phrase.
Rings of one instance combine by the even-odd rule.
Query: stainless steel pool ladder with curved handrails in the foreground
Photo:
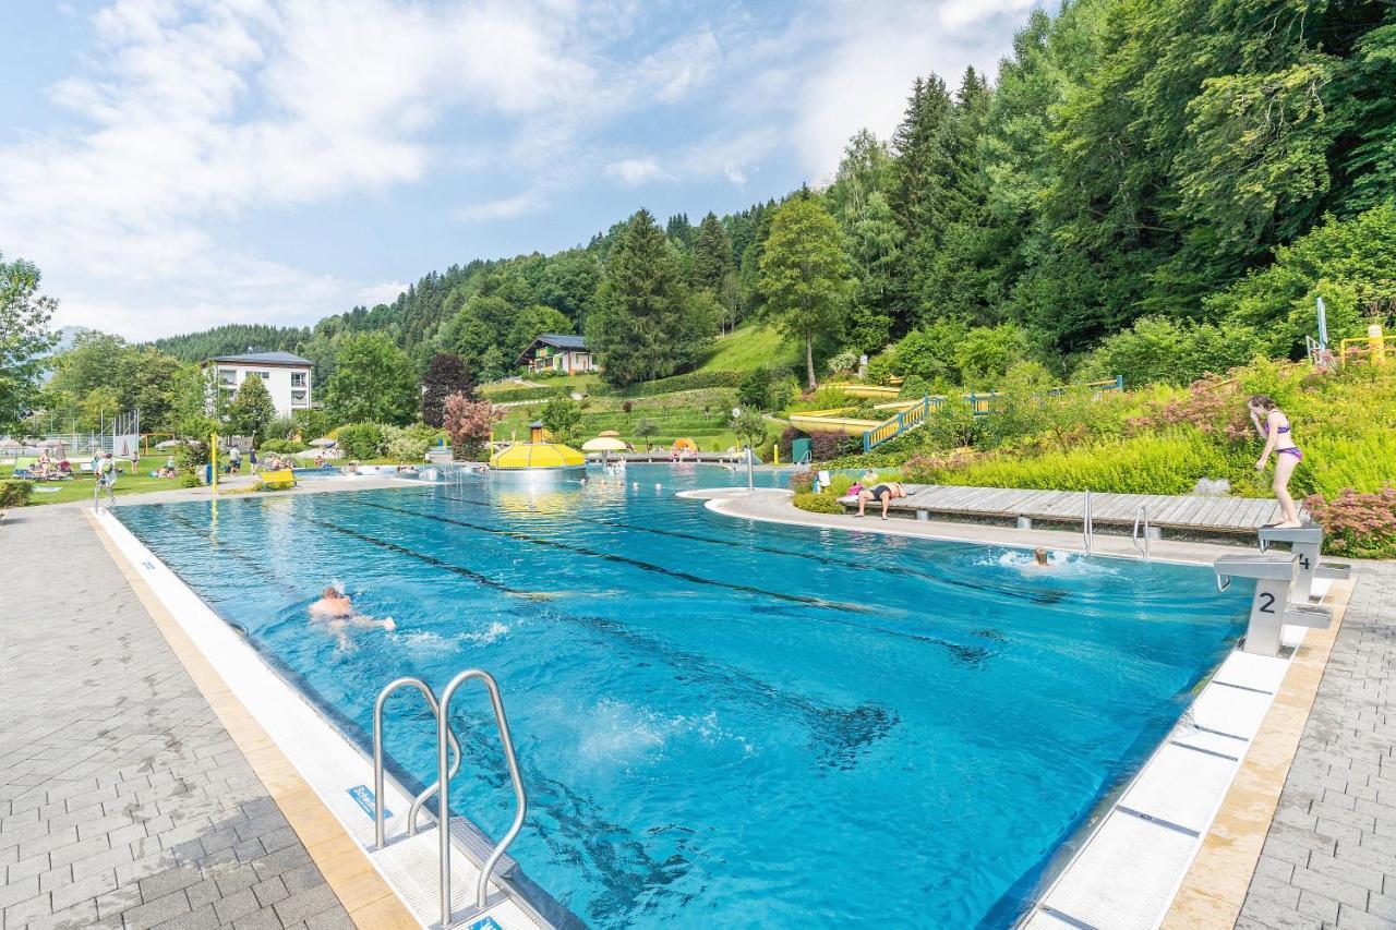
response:
[[[389,681],[383,691],[378,693],[378,700],[373,707],[373,789],[374,789],[374,804],[373,804],[373,827],[374,839],[377,846],[381,849],[384,846],[384,825],[383,825],[383,707],[388,697],[394,691],[403,687],[415,687],[426,698],[427,705],[437,719],[437,781],[434,785],[429,785],[417,795],[412,807],[408,811],[408,835],[416,834],[417,828],[417,813],[422,804],[433,793],[437,795],[437,831],[440,835],[440,866],[441,866],[441,927],[451,926],[451,778],[461,768],[461,744],[456,741],[455,733],[451,730],[451,698],[455,697],[456,688],[469,681],[470,679],[480,679],[484,690],[490,694],[490,704],[494,709],[494,723],[500,732],[500,743],[504,744],[504,758],[510,767],[510,781],[514,783],[514,800],[517,803],[514,811],[514,822],[510,824],[508,831],[504,836],[494,845],[494,849],[480,864],[480,877],[475,885],[475,906],[476,910],[484,910],[486,896],[489,894],[490,876],[494,874],[496,866],[498,866],[500,859],[508,849],[514,838],[518,836],[519,829],[524,827],[524,817],[528,813],[528,793],[524,790],[524,779],[519,776],[518,758],[514,754],[514,739],[510,733],[510,723],[504,715],[504,701],[500,698],[500,686],[494,681],[494,677],[482,669],[466,669],[458,676],[451,679],[450,684],[445,686],[445,691],[441,693],[440,702],[431,693],[431,688],[422,679],[416,677],[402,677]],[[455,751],[455,761],[447,765],[447,747]]]

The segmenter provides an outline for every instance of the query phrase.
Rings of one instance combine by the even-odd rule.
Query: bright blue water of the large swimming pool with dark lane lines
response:
[[[1244,624],[1202,568],[1039,571],[673,497],[719,469],[628,478],[116,512],[366,748],[392,677],[494,673],[532,804],[511,853],[597,927],[1011,924]],[[331,581],[398,628],[336,644],[306,617]],[[456,708],[452,799],[500,835],[487,701]],[[389,715],[399,776],[433,781],[430,718]]]

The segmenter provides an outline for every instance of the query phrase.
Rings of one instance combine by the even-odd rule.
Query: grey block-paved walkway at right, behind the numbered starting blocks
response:
[[[1235,924],[1396,929],[1396,564],[1365,563]]]

